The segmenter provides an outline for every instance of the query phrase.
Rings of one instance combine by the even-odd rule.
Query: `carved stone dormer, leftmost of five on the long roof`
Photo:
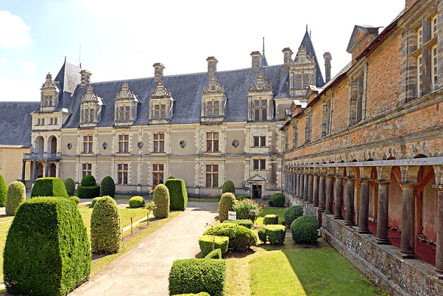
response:
[[[101,120],[102,98],[93,93],[92,86],[87,86],[80,102],[80,127],[95,127]]]

